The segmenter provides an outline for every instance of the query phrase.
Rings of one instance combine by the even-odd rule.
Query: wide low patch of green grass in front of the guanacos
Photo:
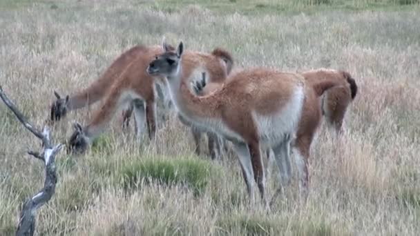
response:
[[[186,185],[194,195],[200,195],[217,170],[210,161],[200,159],[138,159],[126,163],[118,173],[124,188],[137,188],[141,181],[155,182],[164,186]]]

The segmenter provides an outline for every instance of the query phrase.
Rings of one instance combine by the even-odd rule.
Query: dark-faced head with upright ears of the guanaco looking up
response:
[[[156,57],[149,66],[147,72],[152,76],[164,76],[171,77],[178,73],[181,62],[181,55],[184,50],[182,41],[176,49],[176,51],[170,50],[170,48],[163,42],[164,53]]]

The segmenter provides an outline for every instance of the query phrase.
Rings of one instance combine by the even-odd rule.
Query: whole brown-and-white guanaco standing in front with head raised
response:
[[[254,180],[260,197],[269,208],[265,194],[265,171],[260,145],[273,148],[278,166],[283,165],[289,140],[294,139],[301,190],[307,189],[309,146],[317,128],[321,108],[316,97],[336,81],[321,81],[307,86],[303,76],[267,68],[242,70],[229,76],[226,83],[209,95],[191,92],[186,78],[200,78],[202,72],[217,77],[206,68],[191,68],[188,53],[180,42],[176,52],[164,50],[147,72],[166,77],[173,104],[182,117],[195,126],[217,132],[231,141],[238,154],[249,197],[254,199]],[[280,168],[281,169],[281,168]]]

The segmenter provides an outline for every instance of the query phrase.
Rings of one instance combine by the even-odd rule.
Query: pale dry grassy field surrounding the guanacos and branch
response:
[[[296,171],[271,213],[247,206],[236,155],[196,157],[174,116],[151,144],[113,121],[86,155],[57,157],[37,235],[418,235],[420,11],[404,2],[1,0],[0,85],[38,126],[53,90],[82,88],[124,50],[163,35],[194,50],[227,48],[242,67],[345,69],[359,86],[345,135],[323,125],[312,146],[305,206]],[[70,113],[55,141],[95,108]],[[14,233],[21,203],[44,181],[28,148],[38,140],[0,104],[0,235]]]

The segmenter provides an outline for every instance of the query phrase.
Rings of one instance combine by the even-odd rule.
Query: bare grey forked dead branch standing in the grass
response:
[[[4,104],[15,113],[15,116],[21,124],[25,126],[32,134],[34,134],[37,138],[41,139],[43,150],[41,153],[28,151],[29,155],[37,159],[41,159],[44,162],[46,168],[46,177],[44,181],[44,188],[39,190],[39,192],[27,199],[23,204],[23,209],[21,211],[21,216],[19,219],[19,225],[17,226],[16,235],[34,235],[35,232],[35,212],[36,210],[41,207],[42,205],[46,204],[47,201],[53,197],[55,193],[55,184],[57,184],[57,174],[55,172],[55,155],[61,150],[62,145],[57,144],[53,146],[50,140],[50,130],[48,127],[44,127],[42,132],[40,132],[37,128],[32,126],[23,114],[17,109],[15,104],[10,101],[10,99],[6,96],[3,92],[3,89],[0,86],[0,97],[3,100]]]

